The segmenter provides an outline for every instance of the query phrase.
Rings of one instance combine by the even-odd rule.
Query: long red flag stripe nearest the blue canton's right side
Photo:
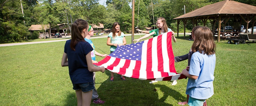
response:
[[[146,70],[151,71],[152,70],[152,39],[148,39],[147,42],[147,54],[142,54],[142,55],[147,55],[147,65],[146,65]]]

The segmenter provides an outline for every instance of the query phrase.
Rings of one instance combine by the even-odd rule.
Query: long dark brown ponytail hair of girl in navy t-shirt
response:
[[[71,43],[70,43],[70,48],[72,50],[74,51],[76,50],[75,46],[78,41],[85,41],[81,33],[83,32],[84,29],[87,29],[87,27],[88,27],[88,22],[83,19],[77,19],[76,21],[74,21],[74,23],[72,23]]]

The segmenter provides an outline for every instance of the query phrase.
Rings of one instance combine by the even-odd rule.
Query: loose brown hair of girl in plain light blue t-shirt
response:
[[[199,51],[199,53],[212,55],[215,54],[216,44],[213,40],[212,33],[208,27],[200,27],[195,30],[194,43],[191,50],[193,52]]]

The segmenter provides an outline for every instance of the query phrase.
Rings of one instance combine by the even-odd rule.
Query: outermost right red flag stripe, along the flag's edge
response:
[[[169,57],[170,72],[176,73],[175,66],[174,66],[174,54],[173,54],[173,48],[172,48],[172,32],[167,33],[167,53]]]

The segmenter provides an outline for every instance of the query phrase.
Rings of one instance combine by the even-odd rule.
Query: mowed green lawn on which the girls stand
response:
[[[188,53],[193,41],[187,39],[177,37],[177,42],[173,42],[175,56]],[[91,40],[97,52],[109,54],[107,38]],[[131,36],[126,36],[126,40],[130,44]],[[214,95],[207,104],[254,105],[256,43],[216,44]],[[77,105],[68,67],[61,67],[64,45],[65,41],[0,47],[0,105]],[[96,57],[97,61],[102,59]],[[175,63],[178,73],[186,66],[187,60]],[[133,78],[121,81],[117,74],[114,74],[113,82],[109,78],[109,71],[96,73],[95,87],[99,97],[106,101],[103,105],[177,106],[177,102],[186,100],[187,79],[178,80],[178,84],[172,86],[172,81],[154,84]]]

